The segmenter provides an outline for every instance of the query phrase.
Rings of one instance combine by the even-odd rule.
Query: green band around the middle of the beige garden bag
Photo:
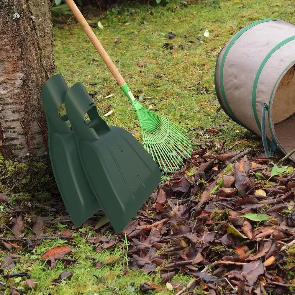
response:
[[[259,121],[259,118],[257,115],[257,109],[256,109],[256,91],[257,91],[257,85],[258,85],[258,80],[259,80],[260,74],[261,74],[264,66],[266,65],[267,61],[269,60],[269,58],[273,55],[273,53],[275,53],[283,45],[285,45],[286,43],[288,43],[294,39],[295,39],[295,36],[291,36],[291,37],[283,40],[282,42],[278,43],[275,47],[273,47],[273,49],[263,59],[261,65],[257,71],[257,74],[255,76],[255,80],[254,80],[254,84],[253,84],[253,92],[252,92],[252,109],[253,109],[253,114],[255,117],[256,124],[257,124],[260,131],[261,131],[261,124],[260,124],[260,121]]]

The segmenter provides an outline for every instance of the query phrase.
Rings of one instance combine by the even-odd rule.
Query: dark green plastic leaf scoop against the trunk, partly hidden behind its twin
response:
[[[65,207],[75,226],[80,226],[101,209],[83,171],[76,140],[66,122],[58,116],[68,86],[62,75],[49,78],[42,87],[42,103],[48,125],[50,161]]]

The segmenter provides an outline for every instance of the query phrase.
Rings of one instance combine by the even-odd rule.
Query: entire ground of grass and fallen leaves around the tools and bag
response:
[[[120,6],[89,20],[134,94],[142,96],[144,106],[189,129],[197,152],[185,171],[170,176],[172,180],[162,177],[161,189],[126,235],[114,235],[108,224],[94,230],[98,215],[73,227],[55,190],[54,199],[42,205],[1,194],[0,293],[176,294],[191,282],[191,294],[242,294],[241,289],[292,294],[295,251],[282,247],[295,234],[293,171],[282,169],[270,178],[272,168],[261,167],[267,162],[257,160],[255,152],[232,166],[226,163],[235,154],[224,153],[262,150],[223,111],[215,119],[219,105],[213,76],[219,48],[232,34],[263,18],[294,22],[293,4],[214,3]],[[95,27],[98,21],[104,29]],[[81,27],[72,23],[54,29],[57,73],[69,86],[81,81],[101,113],[113,110],[105,117],[107,123],[125,127],[140,140],[135,112]],[[252,219],[267,219],[238,217],[248,213],[264,214]],[[138,269],[127,271],[127,265]],[[16,272],[25,273],[8,277]],[[33,282],[26,283],[27,273],[37,289],[30,291],[27,284],[33,287]]]

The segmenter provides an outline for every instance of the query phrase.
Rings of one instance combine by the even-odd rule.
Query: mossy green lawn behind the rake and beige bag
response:
[[[223,111],[218,119],[214,117],[219,106],[214,90],[214,66],[219,48],[241,27],[253,21],[280,17],[292,21],[294,17],[290,13],[291,1],[212,3],[197,1],[186,6],[173,1],[165,7],[119,6],[89,21],[100,21],[105,26],[93,30],[134,95],[143,96],[145,107],[152,106],[151,110],[187,129],[209,128],[225,122],[225,126],[219,126],[222,132],[215,137],[202,130],[191,131],[189,137],[193,142],[212,138],[226,140],[225,146],[230,147],[250,132],[232,122]],[[205,30],[210,33],[208,38],[203,35]],[[169,32],[176,35],[173,40],[168,39]],[[141,132],[132,106],[81,27],[56,27],[54,35],[56,72],[63,75],[72,72],[65,75],[68,84],[81,81],[92,93],[114,88],[109,93],[112,97],[99,96],[102,101],[98,106],[112,104],[114,112],[106,118],[107,123],[134,129],[135,137],[140,140]],[[118,38],[121,42],[115,43]],[[175,49],[163,48],[166,42],[172,43]],[[252,143],[241,143],[245,144]]]

